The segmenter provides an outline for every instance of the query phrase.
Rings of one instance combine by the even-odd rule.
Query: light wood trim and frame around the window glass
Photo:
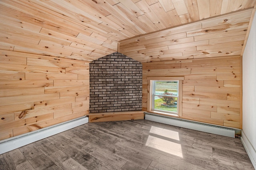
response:
[[[157,80],[157,81],[166,81],[166,80],[176,80],[179,83],[178,86],[178,108],[177,108],[177,113],[167,113],[164,111],[155,111],[152,110],[152,81]],[[167,116],[182,116],[182,82],[184,80],[184,77],[147,77],[148,81],[148,105],[147,105],[147,111],[151,113],[156,113],[156,114],[161,114],[161,115],[167,115]]]

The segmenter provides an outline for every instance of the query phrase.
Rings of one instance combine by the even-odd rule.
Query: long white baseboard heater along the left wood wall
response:
[[[85,123],[88,123],[88,117],[83,116],[76,119],[72,119],[70,121],[65,121],[63,123],[58,123],[56,125],[38,129],[36,131],[25,133],[23,135],[18,135],[15,137],[4,139],[0,141],[0,154],[9,152],[19,147],[23,147],[25,145],[39,141],[46,137],[56,135],[60,132],[64,132],[68,129],[72,129]]]

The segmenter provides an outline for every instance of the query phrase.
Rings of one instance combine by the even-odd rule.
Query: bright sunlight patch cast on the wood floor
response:
[[[155,152],[165,153],[166,155],[172,154],[183,158],[182,147],[179,143],[178,132],[152,126],[145,145]]]

